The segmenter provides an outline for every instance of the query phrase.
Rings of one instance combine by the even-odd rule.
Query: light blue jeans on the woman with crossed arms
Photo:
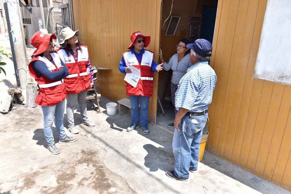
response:
[[[67,137],[64,130],[64,111],[65,100],[54,106],[41,106],[43,113],[43,132],[45,133],[45,139],[47,145],[54,143],[52,125],[55,122],[56,130],[58,131],[59,139],[65,139]]]

